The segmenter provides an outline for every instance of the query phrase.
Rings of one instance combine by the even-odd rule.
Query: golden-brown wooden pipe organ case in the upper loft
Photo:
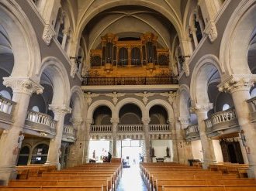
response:
[[[169,49],[158,49],[153,33],[131,39],[108,33],[102,36],[102,49],[91,49],[89,73],[97,70],[98,77],[156,77],[170,70],[169,62]]]

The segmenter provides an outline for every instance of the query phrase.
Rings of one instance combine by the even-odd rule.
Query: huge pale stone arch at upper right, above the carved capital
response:
[[[247,53],[256,26],[255,20],[256,1],[241,1],[227,23],[220,45],[220,68],[225,76],[251,74]]]

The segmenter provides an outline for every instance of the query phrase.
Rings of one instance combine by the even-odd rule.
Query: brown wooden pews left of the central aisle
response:
[[[9,181],[1,191],[115,191],[122,175],[122,165],[116,163],[88,163],[61,171],[29,175],[27,179]]]

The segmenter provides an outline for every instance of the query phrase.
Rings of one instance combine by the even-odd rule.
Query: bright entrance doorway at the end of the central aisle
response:
[[[121,155],[124,167],[137,165],[144,161],[140,140],[121,141]]]

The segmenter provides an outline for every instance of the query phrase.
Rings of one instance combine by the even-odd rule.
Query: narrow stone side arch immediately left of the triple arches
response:
[[[72,118],[84,118],[85,98],[81,87],[74,86],[71,88],[70,101],[73,102]]]

